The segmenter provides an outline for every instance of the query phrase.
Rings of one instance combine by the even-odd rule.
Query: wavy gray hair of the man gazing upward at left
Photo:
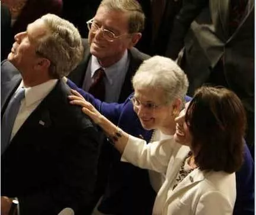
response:
[[[41,17],[47,34],[38,40],[36,53],[50,60],[50,76],[68,76],[84,55],[81,35],[75,26],[53,14]]]

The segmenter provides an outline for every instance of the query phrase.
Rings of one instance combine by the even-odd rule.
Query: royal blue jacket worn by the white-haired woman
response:
[[[133,111],[133,105],[132,102],[130,102],[130,97],[133,95],[130,95],[126,101],[121,104],[105,103],[95,99],[89,93],[84,92],[84,90],[78,89],[70,81],[68,85],[71,86],[72,89],[78,90],[86,100],[91,102],[97,110],[106,118],[110,119],[115,125],[118,125],[130,135],[143,138],[147,142],[150,141],[152,131],[143,129],[139,118],[137,118],[136,113]],[[187,101],[190,99],[191,98],[188,96],[185,98]],[[254,161],[252,160],[246,144],[244,147],[244,164],[241,169],[236,172],[236,203],[234,214],[254,214]],[[118,153],[119,152],[117,152],[117,154]],[[130,214],[148,214],[145,211],[149,211],[153,206],[153,191],[146,170],[139,169],[132,164],[120,162],[120,155],[116,155],[116,157],[115,165],[117,168],[115,171],[118,172],[111,172],[112,177],[110,176],[110,178],[113,181],[109,182],[109,185],[112,185],[112,187],[107,190],[107,197],[109,199],[107,197],[103,198],[105,203],[103,201],[102,207],[107,208],[116,203],[116,207],[119,207],[119,204],[121,204],[121,207],[124,207],[123,210],[128,210]],[[148,190],[142,193],[144,192],[143,189],[146,189],[146,186],[148,186]],[[152,191],[152,193],[149,193],[149,191]],[[140,213],[136,211],[135,207],[138,207]],[[142,207],[145,207],[144,211]],[[129,213],[113,213],[111,211],[111,214]]]

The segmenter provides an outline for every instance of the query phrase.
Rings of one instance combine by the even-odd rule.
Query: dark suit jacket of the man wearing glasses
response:
[[[91,57],[91,54],[89,52],[88,40],[84,39],[83,44],[84,44],[84,50],[85,50],[84,59],[76,67],[76,69],[73,70],[68,76],[68,78],[71,79],[72,82],[74,82],[78,87],[82,87],[88,62]],[[132,76],[135,74],[137,68],[140,66],[142,61],[150,57],[144,53],[141,53],[139,50],[137,50],[137,48],[134,48],[134,47],[131,50],[128,50],[128,54],[130,57],[130,65],[126,73],[123,87],[121,88],[121,93],[120,93],[118,102],[124,102],[127,96],[129,96],[130,93],[133,92],[133,87],[131,83]]]

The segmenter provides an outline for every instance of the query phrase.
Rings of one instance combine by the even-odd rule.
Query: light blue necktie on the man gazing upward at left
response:
[[[21,100],[25,97],[25,89],[21,87],[11,98],[4,116],[2,117],[1,125],[1,155],[7,149],[12,132],[12,126],[16,119],[18,110],[20,109]]]

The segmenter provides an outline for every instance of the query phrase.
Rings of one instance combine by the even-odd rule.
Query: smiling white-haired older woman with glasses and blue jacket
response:
[[[75,88],[70,81],[68,84]],[[82,90],[79,92],[124,131],[143,138],[146,142],[161,139],[172,141],[175,132],[174,119],[184,104],[187,92],[187,76],[171,59],[155,56],[140,65],[132,84],[135,93],[122,104],[101,102],[89,93]],[[113,148],[105,146],[107,147]],[[148,172],[121,162],[120,154],[116,150],[105,151],[104,154],[111,153],[105,156],[111,158],[111,168],[98,210],[105,212],[104,209],[101,210],[101,206],[108,204],[114,208],[108,211],[110,214],[120,213],[117,206],[125,207],[127,214],[135,214],[135,211],[138,215],[152,214],[155,196],[162,185],[164,174]]]

